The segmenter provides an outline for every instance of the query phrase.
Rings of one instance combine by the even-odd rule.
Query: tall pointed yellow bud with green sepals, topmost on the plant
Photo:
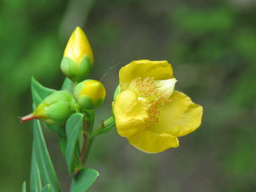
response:
[[[87,77],[93,67],[91,45],[84,31],[77,27],[70,36],[63,59],[61,70],[74,82],[81,82]]]

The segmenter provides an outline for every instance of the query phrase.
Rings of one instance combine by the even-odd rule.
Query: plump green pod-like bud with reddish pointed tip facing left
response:
[[[72,94],[67,91],[57,91],[46,97],[32,114],[21,117],[21,122],[39,119],[49,124],[63,125],[67,119],[79,110]]]

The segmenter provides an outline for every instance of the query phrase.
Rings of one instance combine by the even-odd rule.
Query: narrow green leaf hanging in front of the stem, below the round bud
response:
[[[79,134],[83,129],[83,114],[75,113],[71,115],[66,124],[67,133],[67,149],[66,149],[66,160],[68,165],[68,171],[70,174],[74,172],[74,169],[82,169],[82,164],[79,161],[78,154],[75,153]],[[75,166],[74,166],[75,164]]]

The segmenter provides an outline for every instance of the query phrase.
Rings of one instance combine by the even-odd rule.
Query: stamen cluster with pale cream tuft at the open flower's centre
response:
[[[160,111],[159,105],[171,102],[170,96],[173,93],[177,80],[175,78],[154,81],[153,77],[141,79],[137,77],[130,84],[120,84],[121,92],[133,90],[138,94],[138,99],[145,103],[148,110],[147,127],[158,122]]]

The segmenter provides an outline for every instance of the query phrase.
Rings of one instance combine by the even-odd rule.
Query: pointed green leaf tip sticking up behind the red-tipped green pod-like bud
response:
[[[31,92],[33,102],[36,107],[50,94],[54,93],[56,90],[49,89],[41,85],[34,77],[31,78]]]

